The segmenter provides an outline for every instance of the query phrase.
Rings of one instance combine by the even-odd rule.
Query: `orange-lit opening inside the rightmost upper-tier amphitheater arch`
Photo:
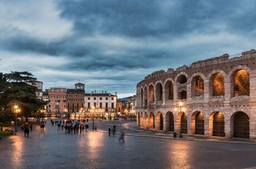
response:
[[[249,96],[250,94],[250,78],[249,73],[245,69],[240,69],[235,71],[234,76],[232,76],[232,86],[233,89],[232,96]]]

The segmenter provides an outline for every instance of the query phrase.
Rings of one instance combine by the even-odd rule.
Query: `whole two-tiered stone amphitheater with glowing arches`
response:
[[[256,139],[256,51],[155,71],[136,86],[137,125]]]

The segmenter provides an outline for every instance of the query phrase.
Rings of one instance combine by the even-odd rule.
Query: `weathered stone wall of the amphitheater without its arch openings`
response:
[[[234,134],[234,115],[242,111],[249,116],[250,139],[256,139],[256,51],[254,49],[243,52],[242,56],[229,58],[228,54],[220,57],[200,60],[192,63],[190,66],[183,65],[180,68],[168,69],[168,71],[155,71],[147,75],[144,80],[137,84],[137,106],[136,111],[140,112],[140,126],[156,126],[159,129],[160,117],[164,118],[164,130],[169,129],[169,117],[165,115],[172,112],[174,115],[174,131],[180,130],[180,114],[174,110],[179,101],[185,104],[185,113],[188,119],[188,134],[195,134],[195,112],[204,114],[204,135],[213,134],[213,115],[214,112],[221,112],[225,121],[225,136],[233,137]],[[249,73],[249,96],[234,96],[234,74],[240,69],[247,70]],[[212,76],[221,73],[224,76],[224,95],[213,96]],[[179,83],[179,76],[185,75],[187,82]],[[200,96],[194,96],[193,78],[200,76],[204,80],[204,91]],[[191,83],[192,81],[192,83]],[[156,86],[159,83],[163,86],[163,100],[159,96],[159,90]],[[173,100],[169,100],[169,92],[165,88],[166,83],[173,84]],[[158,84],[158,85],[157,85]],[[193,83],[194,84],[194,83]],[[149,86],[154,87],[154,94],[150,93]],[[180,91],[186,91],[186,99],[180,100]],[[146,91],[147,94],[143,93]],[[144,98],[141,99],[141,96]],[[147,96],[147,97],[145,97]],[[154,96],[154,99],[152,99]],[[151,98],[150,98],[151,97]],[[152,114],[154,114],[154,117]],[[152,119],[154,118],[154,119]],[[143,119],[143,120],[142,120]],[[154,125],[152,124],[154,122]]]

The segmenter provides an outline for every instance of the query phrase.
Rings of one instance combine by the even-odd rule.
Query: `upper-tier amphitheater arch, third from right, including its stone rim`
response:
[[[191,96],[204,96],[205,76],[201,73],[195,73],[190,78]]]

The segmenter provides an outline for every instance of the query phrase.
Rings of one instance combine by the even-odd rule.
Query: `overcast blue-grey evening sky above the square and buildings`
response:
[[[153,71],[256,48],[255,1],[0,0],[0,71],[119,98]]]

